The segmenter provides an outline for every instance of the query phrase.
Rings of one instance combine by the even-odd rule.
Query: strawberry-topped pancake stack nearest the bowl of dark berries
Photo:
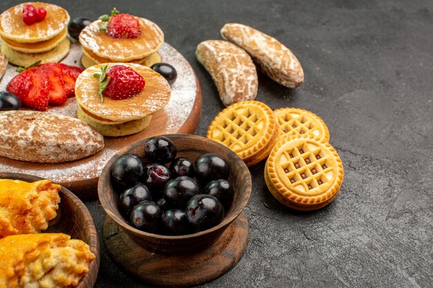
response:
[[[129,66],[145,79],[145,88],[127,99],[104,97],[101,102],[99,79],[93,74],[100,73],[106,65],[108,69],[114,65]],[[104,136],[131,135],[149,126],[151,114],[164,108],[169,102],[171,91],[167,80],[146,66],[134,63],[98,64],[84,70],[75,83],[77,117]]]

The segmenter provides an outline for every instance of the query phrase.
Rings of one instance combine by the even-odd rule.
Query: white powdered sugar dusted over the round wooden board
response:
[[[160,133],[178,133],[185,120],[190,116],[196,95],[199,90],[196,84],[194,70],[192,70],[187,60],[169,44],[163,44],[158,50],[161,61],[172,64],[177,70],[178,78],[172,84],[172,96],[163,111],[158,114],[167,116],[165,126],[161,126]],[[80,44],[71,43],[71,50],[68,56],[62,61],[69,65],[79,65],[82,56]],[[6,74],[0,81],[0,90],[4,90],[10,79],[17,75],[16,67],[8,65]],[[50,107],[49,113],[76,117],[77,103],[75,97],[68,99],[66,104],[60,107]],[[152,117],[150,126],[156,123],[157,116]],[[159,125],[159,124],[158,124]],[[73,186],[81,181],[92,179],[97,181],[98,177],[108,160],[118,153],[122,148],[129,144],[146,137],[152,136],[146,130],[136,135],[126,137],[105,137],[105,147],[99,153],[86,157],[82,160],[64,162],[59,164],[36,164],[32,162],[22,162],[0,157],[0,171],[11,173],[27,173],[39,177],[53,179],[61,184],[68,183],[73,191]]]

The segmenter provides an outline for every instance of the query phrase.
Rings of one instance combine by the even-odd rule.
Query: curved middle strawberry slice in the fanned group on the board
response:
[[[62,73],[57,70],[46,66],[45,64],[36,66],[35,68],[40,72],[46,74],[48,79],[50,79],[50,90],[48,90],[48,104],[53,106],[60,106],[66,102],[68,95],[66,94],[66,89],[64,88],[64,82]]]

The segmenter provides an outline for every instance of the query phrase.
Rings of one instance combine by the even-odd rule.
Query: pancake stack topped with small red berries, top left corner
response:
[[[46,18],[26,25],[23,8],[28,4],[45,8]],[[53,4],[30,2],[14,6],[0,15],[1,52],[17,66],[58,62],[69,52],[68,22],[68,12]]]

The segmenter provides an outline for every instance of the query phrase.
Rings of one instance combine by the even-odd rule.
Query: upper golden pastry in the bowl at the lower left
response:
[[[59,209],[60,189],[51,180],[0,179],[0,238],[47,229]]]

